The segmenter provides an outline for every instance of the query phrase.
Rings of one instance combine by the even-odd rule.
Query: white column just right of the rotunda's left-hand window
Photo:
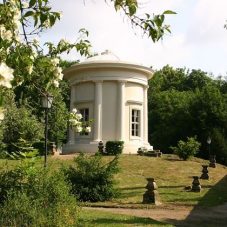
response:
[[[102,81],[95,81],[94,141],[102,140]]]

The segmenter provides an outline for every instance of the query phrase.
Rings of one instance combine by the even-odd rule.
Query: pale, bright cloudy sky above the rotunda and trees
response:
[[[226,0],[139,0],[139,14],[160,13],[166,9],[177,12],[166,18],[171,25],[168,34],[158,43],[142,37],[131,27],[123,13],[116,13],[104,0],[52,0],[55,10],[62,11],[61,22],[42,36],[42,41],[57,42],[61,38],[75,41],[78,30],[86,28],[95,52],[106,49],[120,59],[160,69],[174,67],[202,69],[226,76],[227,19]],[[64,58],[77,60],[76,53]]]

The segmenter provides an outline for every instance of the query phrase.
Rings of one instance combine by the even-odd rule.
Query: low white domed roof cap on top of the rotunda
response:
[[[101,54],[95,55],[93,57],[87,58],[84,60],[83,63],[95,63],[95,62],[120,62],[120,58],[117,57],[114,53],[110,50],[105,50]]]

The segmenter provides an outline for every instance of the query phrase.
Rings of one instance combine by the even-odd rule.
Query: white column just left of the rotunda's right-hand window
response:
[[[125,81],[118,81],[118,140],[125,135]]]

